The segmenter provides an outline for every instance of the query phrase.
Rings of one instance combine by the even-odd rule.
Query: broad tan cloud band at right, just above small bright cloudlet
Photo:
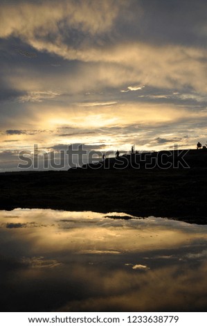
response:
[[[48,51],[61,55],[66,60],[96,63],[95,70],[93,68],[88,74],[88,81],[91,83],[94,80],[92,87],[97,88],[98,85],[120,87],[128,81],[153,87],[176,87],[177,89],[190,85],[196,90],[206,92],[204,85],[206,81],[204,69],[207,65],[205,49],[193,49],[186,46],[170,48],[165,45],[158,47],[141,42],[134,44],[126,42],[103,49],[85,47],[77,49],[75,54],[71,55],[71,46],[69,49],[67,45],[64,47],[66,48],[64,53],[60,53],[60,46],[55,49],[55,46],[51,44]],[[83,76],[85,69],[87,66],[82,71]],[[98,81],[101,84],[98,84]],[[74,85],[78,86],[77,83]],[[129,90],[137,89],[137,87],[131,87]],[[84,90],[87,91],[86,88]]]

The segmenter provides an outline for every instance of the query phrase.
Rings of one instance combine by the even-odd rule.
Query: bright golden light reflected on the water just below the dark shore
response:
[[[21,212],[17,223],[22,228],[11,228],[10,233],[18,237],[24,232],[24,239],[32,241],[31,252],[44,250],[67,250],[73,254],[104,254],[142,252],[161,248],[178,248],[192,239],[207,239],[207,234],[173,230],[164,220],[113,220],[94,212],[53,212],[50,209]],[[116,213],[115,213],[116,214]],[[156,222],[161,223],[157,225]],[[4,219],[2,226],[13,223],[13,218]],[[16,223],[16,221],[15,221]],[[162,225],[163,224],[163,225]],[[50,232],[48,232],[50,230]]]

